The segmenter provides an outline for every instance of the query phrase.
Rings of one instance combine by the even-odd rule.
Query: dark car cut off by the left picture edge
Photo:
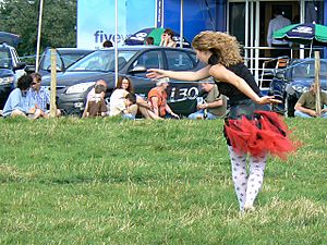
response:
[[[5,44],[0,45],[0,108],[15,87],[16,81],[24,72],[25,63],[21,62],[16,50]]]

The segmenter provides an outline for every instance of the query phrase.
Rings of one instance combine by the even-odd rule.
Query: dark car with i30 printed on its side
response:
[[[147,69],[159,68],[173,71],[195,71],[203,68],[190,49],[155,46],[130,46],[119,48],[118,69],[120,75],[131,78],[135,93],[147,97],[156,82],[146,77]],[[114,88],[114,49],[97,50],[57,77],[58,107],[68,114],[81,114],[86,95],[98,79],[108,84],[109,97]],[[50,77],[44,77],[44,85],[50,85]],[[175,113],[187,115],[196,109],[198,83],[170,81],[168,102]]]

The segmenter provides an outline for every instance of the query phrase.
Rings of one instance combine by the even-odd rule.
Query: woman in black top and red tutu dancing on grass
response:
[[[262,96],[253,75],[243,63],[235,37],[218,32],[202,32],[192,41],[197,58],[207,66],[196,72],[172,72],[150,69],[150,78],[170,77],[201,81],[213,76],[219,91],[230,101],[223,133],[231,159],[232,179],[240,210],[253,210],[261,191],[267,155],[286,158],[295,150],[287,137],[287,126],[268,103],[280,102],[274,96]],[[250,172],[246,156],[250,155]]]

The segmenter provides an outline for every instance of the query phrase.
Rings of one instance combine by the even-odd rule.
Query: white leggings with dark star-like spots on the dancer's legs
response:
[[[246,155],[237,154],[231,146],[228,146],[228,150],[240,210],[244,210],[244,206],[253,207],[253,203],[262,188],[267,155],[250,156],[250,173],[247,174]]]

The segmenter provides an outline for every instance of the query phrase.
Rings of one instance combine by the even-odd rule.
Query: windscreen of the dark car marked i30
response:
[[[118,69],[122,69],[125,63],[136,53],[135,50],[119,50],[118,52]],[[68,72],[74,71],[100,71],[113,72],[114,71],[114,50],[98,50],[76,63],[72,64]]]

